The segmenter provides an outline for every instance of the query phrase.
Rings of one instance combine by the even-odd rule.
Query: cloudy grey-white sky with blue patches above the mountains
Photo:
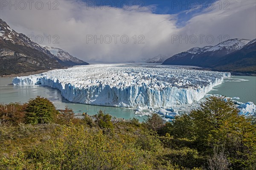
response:
[[[1,0],[0,18],[84,61],[139,61],[256,38],[256,0]]]

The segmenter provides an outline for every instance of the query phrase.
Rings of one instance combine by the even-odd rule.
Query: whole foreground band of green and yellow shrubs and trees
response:
[[[255,118],[211,96],[165,123],[153,114],[112,123],[99,111],[76,119],[38,96],[0,105],[1,170],[255,170]]]

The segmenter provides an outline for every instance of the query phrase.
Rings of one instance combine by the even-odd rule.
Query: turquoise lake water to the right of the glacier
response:
[[[221,85],[215,86],[208,94],[221,94],[227,97],[239,97],[239,102],[256,104],[256,77],[233,76],[224,79]]]

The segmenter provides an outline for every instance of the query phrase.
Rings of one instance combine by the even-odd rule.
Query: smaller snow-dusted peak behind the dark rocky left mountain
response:
[[[62,65],[73,66],[73,65],[88,65],[89,63],[84,62],[81,59],[73,57],[67,51],[60,48],[54,48],[49,46],[44,46],[45,49],[50,51],[50,53],[58,60]]]

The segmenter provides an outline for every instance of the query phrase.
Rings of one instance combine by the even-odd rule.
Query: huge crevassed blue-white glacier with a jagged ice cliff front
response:
[[[86,65],[13,79],[47,85],[70,102],[118,107],[161,107],[198,101],[230,73],[169,65]]]

